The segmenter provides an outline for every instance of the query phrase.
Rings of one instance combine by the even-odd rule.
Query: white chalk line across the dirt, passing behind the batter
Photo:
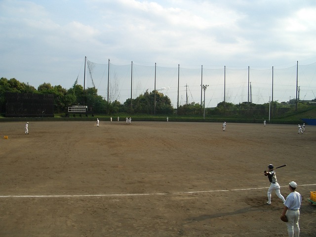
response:
[[[299,186],[314,186],[316,184],[302,184]],[[288,186],[280,186],[288,187]],[[249,189],[224,189],[224,190],[207,190],[207,191],[192,191],[192,192],[176,192],[176,193],[152,193],[152,194],[87,194],[87,195],[6,195],[0,198],[8,197],[126,197],[126,196],[149,196],[149,195],[177,195],[177,194],[200,194],[200,193],[215,193],[215,192],[228,192],[228,191],[242,191],[242,190],[259,190],[268,189],[264,188],[249,188]]]

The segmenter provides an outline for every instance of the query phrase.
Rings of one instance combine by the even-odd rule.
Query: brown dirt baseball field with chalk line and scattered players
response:
[[[196,122],[0,123],[1,237],[287,237],[281,194],[298,183],[301,237],[316,236],[316,126]],[[3,136],[8,139],[3,139]]]

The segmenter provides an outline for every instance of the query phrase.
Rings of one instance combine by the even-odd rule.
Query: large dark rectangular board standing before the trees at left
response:
[[[54,117],[54,95],[5,94],[5,117]]]

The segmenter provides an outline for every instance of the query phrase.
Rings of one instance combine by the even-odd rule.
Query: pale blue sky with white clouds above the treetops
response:
[[[255,70],[251,75],[257,75],[258,70],[264,75],[256,76],[257,81],[250,79],[254,103],[269,101],[272,67],[278,75],[276,83],[283,88],[290,86],[289,93],[278,95],[276,91],[275,100],[293,98],[297,61],[301,98],[314,99],[316,93],[315,0],[0,0],[0,39],[0,77],[15,78],[36,88],[47,82],[69,89],[77,77],[83,85],[86,56],[98,64],[107,64],[110,59],[113,66],[130,68],[133,61],[152,69],[157,63],[160,71],[173,68],[175,85],[160,83],[158,87],[164,89],[177,86],[178,65],[186,76],[190,74],[186,69],[195,69],[195,79],[180,76],[180,80],[181,90],[188,84],[189,101],[196,103],[200,103],[203,65],[203,83],[210,85],[205,92],[209,107],[224,100],[223,82],[215,76],[212,79],[213,72],[221,70],[218,77],[224,81],[224,66],[231,75],[226,81],[227,88],[231,85],[226,94],[228,102],[249,98],[244,85],[240,86],[239,99],[233,89],[238,91],[239,86],[233,84],[239,83],[240,77],[240,83],[247,82],[248,66]],[[145,71],[142,75],[142,69],[137,70],[140,81],[134,87],[142,93],[150,86],[141,81]],[[241,70],[241,76],[233,77],[233,70]],[[291,82],[283,73],[291,75]],[[112,86],[118,75],[111,76]],[[130,79],[130,75],[125,77]],[[98,80],[95,76],[94,83],[106,98],[107,83],[103,86]],[[260,84],[265,80],[266,85]],[[101,84],[102,88],[97,86]],[[122,88],[118,85],[118,91]],[[149,89],[153,88],[151,82]],[[173,105],[175,91],[162,91],[172,97]],[[129,92],[116,93],[114,99],[121,102],[130,96]]]

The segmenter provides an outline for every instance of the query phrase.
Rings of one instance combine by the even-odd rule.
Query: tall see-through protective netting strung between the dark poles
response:
[[[142,66],[135,63],[115,65],[110,62],[99,64],[87,60],[85,86],[95,86],[98,94],[106,100],[118,100],[123,103],[129,98],[135,99],[148,90],[155,89],[155,64]],[[288,68],[254,67],[207,67],[172,68],[156,65],[156,90],[168,96],[173,107],[177,107],[178,83],[179,105],[203,102],[201,84],[208,84],[205,91],[205,106],[216,107],[224,101],[238,104],[252,102],[268,103],[272,100],[288,102],[296,99],[297,65]],[[315,99],[316,63],[298,65],[298,88],[300,100]],[[178,82],[179,79],[179,82]],[[108,81],[109,80],[109,81]],[[108,94],[109,82],[109,94]],[[249,83],[248,83],[249,82]],[[249,86],[248,86],[249,85]],[[249,95],[249,97],[248,97]]]

